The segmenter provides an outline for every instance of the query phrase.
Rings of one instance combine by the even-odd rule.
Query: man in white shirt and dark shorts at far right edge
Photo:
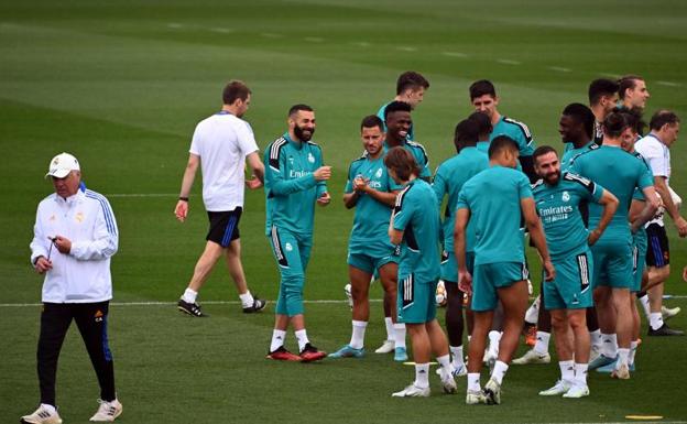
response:
[[[640,152],[652,168],[656,193],[661,195],[663,202],[663,210],[659,209],[654,219],[646,225],[648,286],[646,289],[647,296],[640,296],[640,298],[644,307],[650,309],[648,335],[677,336],[683,335],[684,331],[672,329],[663,322],[662,308],[664,283],[670,275],[670,251],[663,222],[664,214],[667,213],[670,216],[679,237],[687,236],[687,221],[680,216],[668,185],[670,178],[669,149],[677,140],[679,118],[669,110],[658,110],[651,119],[650,129],[648,135],[635,143],[635,150]],[[672,316],[672,314],[666,316]]]

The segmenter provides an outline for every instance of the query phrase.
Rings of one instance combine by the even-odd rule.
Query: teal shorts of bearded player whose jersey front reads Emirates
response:
[[[544,281],[546,309],[581,309],[593,305],[591,275],[593,258],[587,248],[581,252],[552,260],[554,281]]]

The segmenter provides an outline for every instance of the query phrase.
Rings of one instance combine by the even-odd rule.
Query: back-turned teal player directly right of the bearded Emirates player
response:
[[[622,113],[611,112],[603,121],[603,145],[577,156],[572,172],[601,184],[619,199],[619,207],[603,236],[591,247],[595,261],[595,303],[601,333],[617,334],[604,340],[603,355],[590,365],[590,369],[608,365],[615,357],[618,362],[611,373],[614,378],[629,379],[628,357],[632,337],[632,306],[630,287],[633,285],[631,228],[628,210],[635,188],[647,199],[647,207],[657,207],[658,199],[653,182],[646,175],[646,167],[633,155],[621,149],[623,132],[630,132],[630,122]],[[589,227],[596,228],[602,216],[602,208],[589,205]],[[603,275],[603,279],[600,276]],[[608,348],[607,348],[608,347]]]

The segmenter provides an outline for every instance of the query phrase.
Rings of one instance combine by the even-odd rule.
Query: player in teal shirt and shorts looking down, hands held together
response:
[[[391,210],[396,202],[397,185],[384,166],[384,124],[371,115],[363,118],[360,132],[364,153],[348,168],[344,205],[356,208],[353,228],[348,242],[348,275],[353,298],[352,335],[350,343],[329,358],[361,358],[364,355],[364,333],[370,318],[369,289],[372,274],[380,275],[384,298],[392,306],[396,320],[397,256],[389,242]]]

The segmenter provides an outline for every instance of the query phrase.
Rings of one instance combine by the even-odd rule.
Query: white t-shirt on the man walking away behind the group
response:
[[[189,152],[200,156],[206,210],[243,206],[246,156],[258,150],[250,124],[226,111],[196,126]]]

